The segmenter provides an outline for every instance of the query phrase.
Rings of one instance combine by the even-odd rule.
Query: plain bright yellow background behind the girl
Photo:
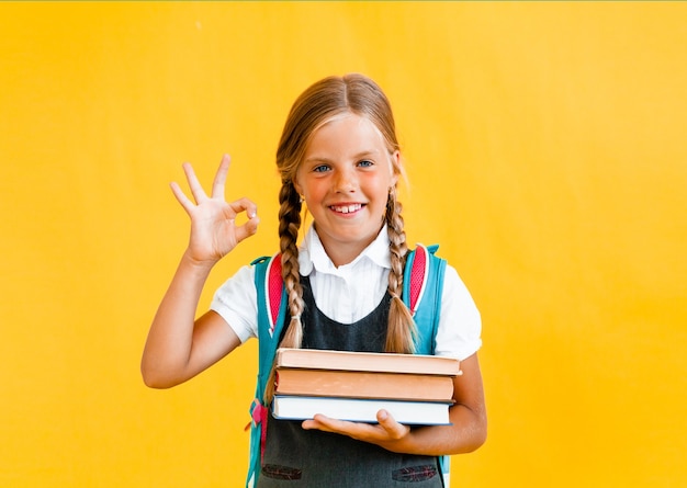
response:
[[[277,247],[311,82],[390,95],[412,241],[483,314],[489,438],[453,486],[684,487],[687,4],[0,4],[0,486],[238,487],[255,343],[144,387],[188,238],[168,188],[233,156]]]

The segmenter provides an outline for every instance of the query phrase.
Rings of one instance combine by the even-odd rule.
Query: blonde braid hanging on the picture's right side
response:
[[[408,247],[401,215],[403,205],[396,200],[396,188],[388,190],[386,202],[386,228],[391,251],[391,272],[388,273],[388,292],[392,296],[388,310],[388,328],[386,332],[386,352],[415,352],[417,329],[408,307],[401,299],[403,293],[403,270]]]

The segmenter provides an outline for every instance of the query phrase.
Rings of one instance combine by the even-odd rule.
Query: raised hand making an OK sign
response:
[[[173,182],[170,185],[174,196],[191,217],[191,237],[187,256],[196,263],[210,265],[216,263],[241,240],[252,236],[258,230],[260,220],[255,203],[248,198],[227,203],[224,198],[224,184],[229,162],[230,158],[225,155],[215,174],[212,196],[210,197],[203,191],[191,164],[188,162],[183,164],[183,171],[195,204],[187,197],[179,184]],[[244,212],[248,220],[237,226],[236,217]]]

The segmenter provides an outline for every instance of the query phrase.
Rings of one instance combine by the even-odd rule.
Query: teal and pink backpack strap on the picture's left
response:
[[[268,411],[264,389],[270,379],[274,354],[286,313],[286,293],[281,277],[281,254],[259,258],[255,266],[255,283],[258,294],[258,381],[256,398],[250,406],[250,461],[246,487],[254,487],[260,474]]]

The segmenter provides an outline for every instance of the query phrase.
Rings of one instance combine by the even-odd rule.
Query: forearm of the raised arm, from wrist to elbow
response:
[[[198,304],[211,266],[184,254],[150,326],[140,371],[151,387],[167,387],[188,378]]]

